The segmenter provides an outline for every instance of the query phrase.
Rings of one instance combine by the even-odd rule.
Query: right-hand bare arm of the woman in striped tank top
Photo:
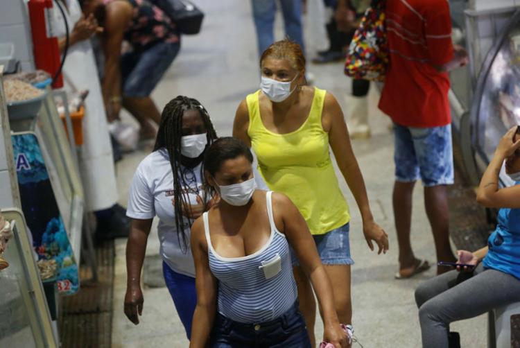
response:
[[[281,193],[272,193],[273,211],[277,212],[275,223],[283,226],[279,229],[286,235],[288,243],[293,247],[300,266],[311,280],[316,297],[323,311],[324,340],[336,347],[347,347],[347,336],[340,328],[332,285],[322,265],[316,245],[309,227],[293,202]],[[278,220],[278,221],[277,221]]]

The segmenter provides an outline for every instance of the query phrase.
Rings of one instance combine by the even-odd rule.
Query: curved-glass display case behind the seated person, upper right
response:
[[[450,0],[453,44],[469,54],[466,67],[449,73],[455,145],[469,182],[478,185],[499,139],[520,123],[520,3]],[[500,175],[501,184],[512,180]]]

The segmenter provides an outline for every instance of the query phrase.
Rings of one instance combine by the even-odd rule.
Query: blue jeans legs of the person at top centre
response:
[[[257,28],[259,55],[275,42],[274,25],[276,13],[275,0],[251,0],[254,26]],[[280,0],[284,15],[285,33],[289,39],[297,42],[305,52],[302,28],[302,0]]]

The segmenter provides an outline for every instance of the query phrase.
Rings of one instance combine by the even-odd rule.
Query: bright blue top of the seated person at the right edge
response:
[[[487,240],[483,266],[520,279],[520,209],[500,209],[498,223]]]

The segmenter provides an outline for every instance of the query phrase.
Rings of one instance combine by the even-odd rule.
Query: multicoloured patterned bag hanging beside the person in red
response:
[[[388,58],[385,0],[373,0],[350,43],[345,74],[352,78],[383,81]]]

